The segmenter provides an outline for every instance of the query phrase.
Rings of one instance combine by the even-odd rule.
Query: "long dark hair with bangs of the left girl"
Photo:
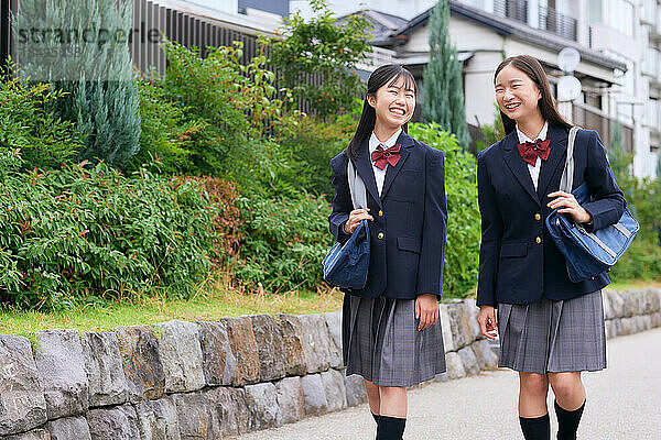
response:
[[[349,145],[344,150],[344,153],[349,158],[355,160],[358,156],[360,144],[369,139],[375,130],[377,112],[367,101],[367,97],[375,96],[377,90],[386,84],[388,84],[388,86],[394,85],[402,77],[404,78],[404,87],[412,88],[413,92],[418,95],[418,85],[415,84],[413,74],[399,64],[386,64],[377,68],[369,76],[369,79],[367,80],[367,94],[365,95],[365,101],[362,102],[362,113],[360,114],[358,128],[356,129],[356,133],[354,133],[354,138],[351,138]],[[408,132],[408,123],[402,125],[404,132]]]

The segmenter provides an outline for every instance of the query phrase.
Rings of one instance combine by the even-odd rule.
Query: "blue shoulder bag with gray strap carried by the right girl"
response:
[[[587,183],[583,183],[572,191],[574,179],[574,141],[578,128],[570,130],[567,157],[565,162],[560,190],[572,193],[579,205],[592,201]],[[559,208],[560,209],[560,208]],[[589,279],[610,270],[622,256],[638,233],[638,222],[625,208],[619,221],[597,231],[587,231],[583,224],[576,223],[571,215],[553,210],[546,217],[546,228],[555,245],[565,256],[567,274],[574,283]]]

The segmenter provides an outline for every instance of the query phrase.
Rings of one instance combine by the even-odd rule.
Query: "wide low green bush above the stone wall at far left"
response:
[[[214,208],[194,182],[148,172],[20,172],[0,157],[0,294],[36,309],[94,296],[163,290],[186,296],[209,267]]]

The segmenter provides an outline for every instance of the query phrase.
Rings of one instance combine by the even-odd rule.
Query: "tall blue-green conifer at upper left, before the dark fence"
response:
[[[76,123],[78,160],[126,164],[140,147],[128,0],[22,0],[13,16],[18,74],[67,95],[54,111]]]

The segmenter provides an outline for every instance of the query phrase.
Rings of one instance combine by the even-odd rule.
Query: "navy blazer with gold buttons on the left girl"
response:
[[[381,197],[377,191],[368,141],[360,145],[355,166],[365,182],[369,222],[370,260],[367,284],[346,293],[413,299],[420,294],[441,296],[447,234],[445,163],[443,152],[415,141],[402,131],[401,158],[388,166]],[[344,224],[354,210],[347,182],[347,156],[330,161],[335,187],[330,232],[339,242],[348,239]]]

